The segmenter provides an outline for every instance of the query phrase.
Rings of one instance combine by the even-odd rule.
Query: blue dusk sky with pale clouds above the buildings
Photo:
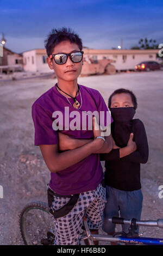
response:
[[[44,48],[52,28],[70,27],[91,48],[138,45],[140,38],[163,43],[161,0],[0,0],[0,39],[12,51]]]

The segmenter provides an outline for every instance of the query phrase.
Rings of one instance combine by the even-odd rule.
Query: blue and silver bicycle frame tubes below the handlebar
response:
[[[163,239],[151,237],[126,237],[126,236],[109,236],[109,235],[92,235],[84,216],[84,227],[86,235],[80,237],[80,241],[88,240],[89,245],[94,245],[93,241],[109,241],[120,243],[133,243],[135,245],[163,245]],[[153,222],[151,222],[152,225]],[[142,224],[143,225],[143,224]],[[147,225],[147,224],[146,224]],[[149,225],[149,224],[148,224]],[[153,223],[154,225],[154,223]]]

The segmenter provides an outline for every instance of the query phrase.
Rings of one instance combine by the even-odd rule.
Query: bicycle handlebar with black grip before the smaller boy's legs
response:
[[[119,218],[119,217],[109,218],[109,222],[112,222],[112,223],[115,223],[115,224],[131,224],[131,220],[126,219],[126,218]],[[139,220],[136,220],[136,224],[137,225],[142,225],[142,226],[163,228],[163,219],[159,219],[157,221],[139,221]]]

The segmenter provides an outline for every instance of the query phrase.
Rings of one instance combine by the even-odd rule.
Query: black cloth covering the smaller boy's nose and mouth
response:
[[[112,107],[110,108],[111,117],[116,122],[125,122],[133,119],[135,107]]]

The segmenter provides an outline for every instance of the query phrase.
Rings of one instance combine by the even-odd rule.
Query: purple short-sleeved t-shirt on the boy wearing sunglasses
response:
[[[74,100],[68,97],[68,100],[64,95],[58,92],[56,85],[47,92],[43,93],[32,106],[32,118],[35,127],[35,145],[41,144],[58,144],[58,131],[54,130],[52,124],[58,115],[55,115],[55,111],[60,111],[63,115],[63,130],[60,132],[65,133],[72,138],[77,139],[93,139],[93,131],[89,130],[88,122],[86,123],[85,130],[81,130],[82,121],[78,123],[78,130],[71,130],[67,128],[67,113],[65,116],[65,107],[70,112],[69,124],[74,117],[71,117],[72,111],[77,111],[80,114],[80,120],[82,120],[82,111],[104,111],[105,119],[103,125],[106,125],[106,112],[109,113],[108,107],[102,95],[96,89],[85,87],[79,84],[80,93],[82,95],[82,107],[76,109],[73,106]],[[77,95],[77,100],[81,105],[80,94]],[[107,114],[108,114],[107,113]],[[52,117],[53,115],[53,117]],[[100,120],[99,114],[99,120]],[[101,120],[100,120],[101,121]],[[62,126],[61,125],[61,126]],[[59,126],[61,128],[61,126]],[[67,130],[66,130],[67,129]],[[80,129],[80,130],[79,130]],[[95,190],[98,184],[104,178],[103,168],[99,159],[99,154],[91,154],[82,161],[73,164],[64,170],[60,170],[57,173],[51,173],[51,181],[49,186],[58,194],[76,194],[86,191]]]

